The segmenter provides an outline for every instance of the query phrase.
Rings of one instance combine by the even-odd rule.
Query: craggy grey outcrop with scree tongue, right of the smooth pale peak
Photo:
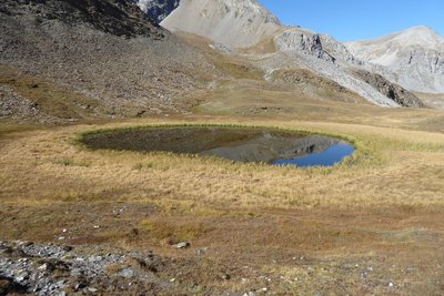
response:
[[[363,80],[362,76],[356,75],[354,71],[350,71],[363,68],[364,63],[331,37],[301,28],[291,28],[278,33],[273,38],[273,42],[276,51],[263,55],[258,62],[269,74],[280,69],[304,69],[313,71],[377,105],[398,106],[398,101],[402,101],[393,100]],[[387,83],[391,84],[391,82]],[[393,88],[398,86],[393,85]]]

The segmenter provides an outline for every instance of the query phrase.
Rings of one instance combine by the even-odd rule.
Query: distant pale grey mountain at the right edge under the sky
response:
[[[346,43],[359,59],[407,90],[444,92],[444,37],[427,27],[369,41]]]

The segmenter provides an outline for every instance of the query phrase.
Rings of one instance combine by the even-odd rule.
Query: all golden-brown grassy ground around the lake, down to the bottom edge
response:
[[[365,106],[3,123],[0,237],[151,249],[181,263],[161,273],[175,280],[165,294],[442,294],[443,114]],[[316,110],[324,120],[304,119]],[[165,124],[279,126],[342,136],[357,152],[335,167],[297,170],[78,142],[85,132]],[[181,242],[191,245],[171,247]]]

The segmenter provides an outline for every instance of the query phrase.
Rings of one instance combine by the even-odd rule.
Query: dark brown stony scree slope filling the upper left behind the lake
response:
[[[94,118],[182,112],[181,98],[220,75],[194,48],[124,0],[1,1],[0,65],[82,96],[70,104]],[[0,84],[2,101],[40,85],[16,78]],[[71,108],[70,98],[54,100]],[[41,106],[32,112],[44,112]]]

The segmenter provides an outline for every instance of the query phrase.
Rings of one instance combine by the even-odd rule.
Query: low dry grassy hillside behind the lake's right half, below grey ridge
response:
[[[194,111],[202,115],[238,118],[239,122],[329,122],[364,126],[444,131],[444,112],[379,108],[362,99],[335,101],[297,90],[269,88],[243,80],[226,82],[199,98]],[[206,116],[208,118],[208,116]],[[246,118],[245,121],[242,118]],[[365,129],[365,127],[364,127]]]

